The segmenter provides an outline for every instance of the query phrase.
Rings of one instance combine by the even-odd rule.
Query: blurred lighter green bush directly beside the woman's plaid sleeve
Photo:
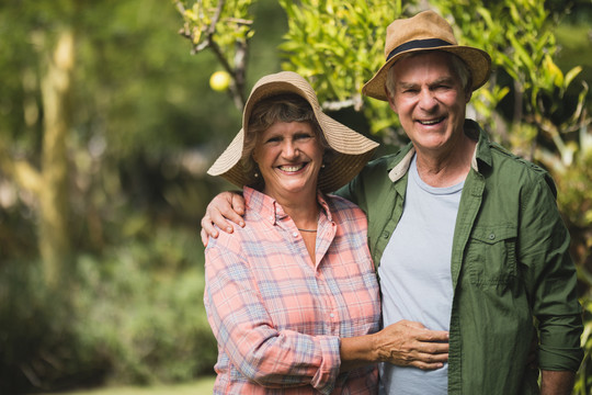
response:
[[[81,257],[78,267],[75,332],[103,354],[109,380],[179,382],[212,372],[216,342],[202,303],[203,249],[193,234],[161,228],[152,241],[119,246],[101,261]]]

